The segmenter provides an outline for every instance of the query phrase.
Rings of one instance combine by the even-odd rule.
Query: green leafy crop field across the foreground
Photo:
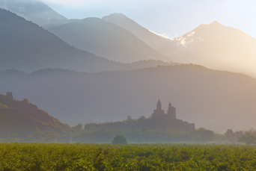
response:
[[[164,143],[1,143],[0,170],[256,170],[256,148]]]

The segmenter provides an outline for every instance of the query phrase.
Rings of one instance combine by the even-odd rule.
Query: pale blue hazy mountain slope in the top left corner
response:
[[[39,0],[0,0],[0,8],[10,10],[39,25],[45,25],[52,20],[67,20]]]

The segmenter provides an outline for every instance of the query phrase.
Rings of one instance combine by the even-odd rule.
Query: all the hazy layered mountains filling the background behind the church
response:
[[[0,7],[13,12],[0,9],[0,93],[28,98],[61,121],[150,116],[160,98],[197,128],[255,128],[256,82],[246,75],[256,77],[256,40],[242,31],[213,22],[169,39],[121,13],[65,19],[41,1]]]

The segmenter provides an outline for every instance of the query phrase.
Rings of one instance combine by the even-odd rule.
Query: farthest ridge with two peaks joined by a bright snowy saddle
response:
[[[103,19],[126,28],[175,62],[195,63],[256,77],[256,40],[236,28],[213,22],[171,40],[153,34],[121,13],[104,16]]]

